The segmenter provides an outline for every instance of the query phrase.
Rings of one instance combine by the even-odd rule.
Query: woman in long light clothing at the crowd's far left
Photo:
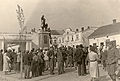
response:
[[[10,58],[8,57],[6,50],[3,55],[3,71],[5,72],[5,74],[8,74],[8,72],[10,71],[9,62],[10,62]]]

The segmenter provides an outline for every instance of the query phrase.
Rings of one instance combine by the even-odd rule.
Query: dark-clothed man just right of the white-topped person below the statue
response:
[[[54,74],[54,50],[53,47],[50,47],[48,51],[49,63],[50,63],[50,74]]]

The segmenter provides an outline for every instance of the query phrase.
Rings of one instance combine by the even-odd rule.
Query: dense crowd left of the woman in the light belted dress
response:
[[[80,50],[83,50],[83,55]],[[23,63],[24,78],[41,76],[44,71],[49,71],[51,75],[54,73],[54,68],[57,67],[58,74],[65,73],[65,68],[72,68],[79,65],[79,75],[85,75],[86,58],[88,48],[82,45],[73,47],[61,46],[59,48],[50,47],[49,49],[32,49],[31,51],[3,50],[0,51],[0,71],[8,74],[12,70],[19,73],[21,70],[21,57]],[[77,51],[76,51],[77,50]],[[22,54],[22,55],[21,55]],[[31,75],[32,74],[32,75]]]

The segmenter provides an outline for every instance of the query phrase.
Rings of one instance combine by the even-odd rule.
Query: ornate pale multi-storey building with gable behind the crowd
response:
[[[65,30],[65,33],[62,36],[58,37],[58,46],[76,46],[80,44],[88,46],[88,36],[93,33],[93,31],[94,29],[90,27],[85,30],[82,27],[81,31],[79,31],[78,29],[76,29],[76,31],[73,31],[71,28],[68,28]]]

